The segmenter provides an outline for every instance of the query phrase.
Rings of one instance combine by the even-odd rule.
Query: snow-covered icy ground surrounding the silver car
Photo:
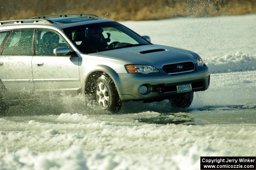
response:
[[[0,169],[199,169],[200,156],[256,155],[256,15],[126,21],[155,44],[197,52],[211,85],[192,106],[89,101],[11,107],[0,117]],[[254,68],[255,67],[255,68]]]

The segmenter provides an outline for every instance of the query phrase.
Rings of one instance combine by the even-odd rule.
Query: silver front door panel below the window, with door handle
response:
[[[76,94],[81,89],[79,57],[35,55],[32,59],[32,69],[35,93],[43,89],[50,93],[52,92],[49,89],[55,89],[56,93],[62,93],[63,89],[73,89]]]

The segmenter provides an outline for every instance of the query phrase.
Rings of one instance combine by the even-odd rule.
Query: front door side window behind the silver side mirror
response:
[[[58,47],[68,47],[67,42],[54,31],[39,29],[36,32],[36,55],[54,55]]]

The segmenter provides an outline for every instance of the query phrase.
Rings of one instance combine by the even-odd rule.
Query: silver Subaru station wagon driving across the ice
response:
[[[210,84],[198,54],[154,45],[94,14],[0,21],[0,111],[28,99],[91,97],[103,110],[169,100],[189,107]]]

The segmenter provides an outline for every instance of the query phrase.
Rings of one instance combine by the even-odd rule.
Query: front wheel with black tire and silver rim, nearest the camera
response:
[[[113,80],[104,75],[100,76],[96,82],[95,99],[103,110],[118,112],[122,106]]]

